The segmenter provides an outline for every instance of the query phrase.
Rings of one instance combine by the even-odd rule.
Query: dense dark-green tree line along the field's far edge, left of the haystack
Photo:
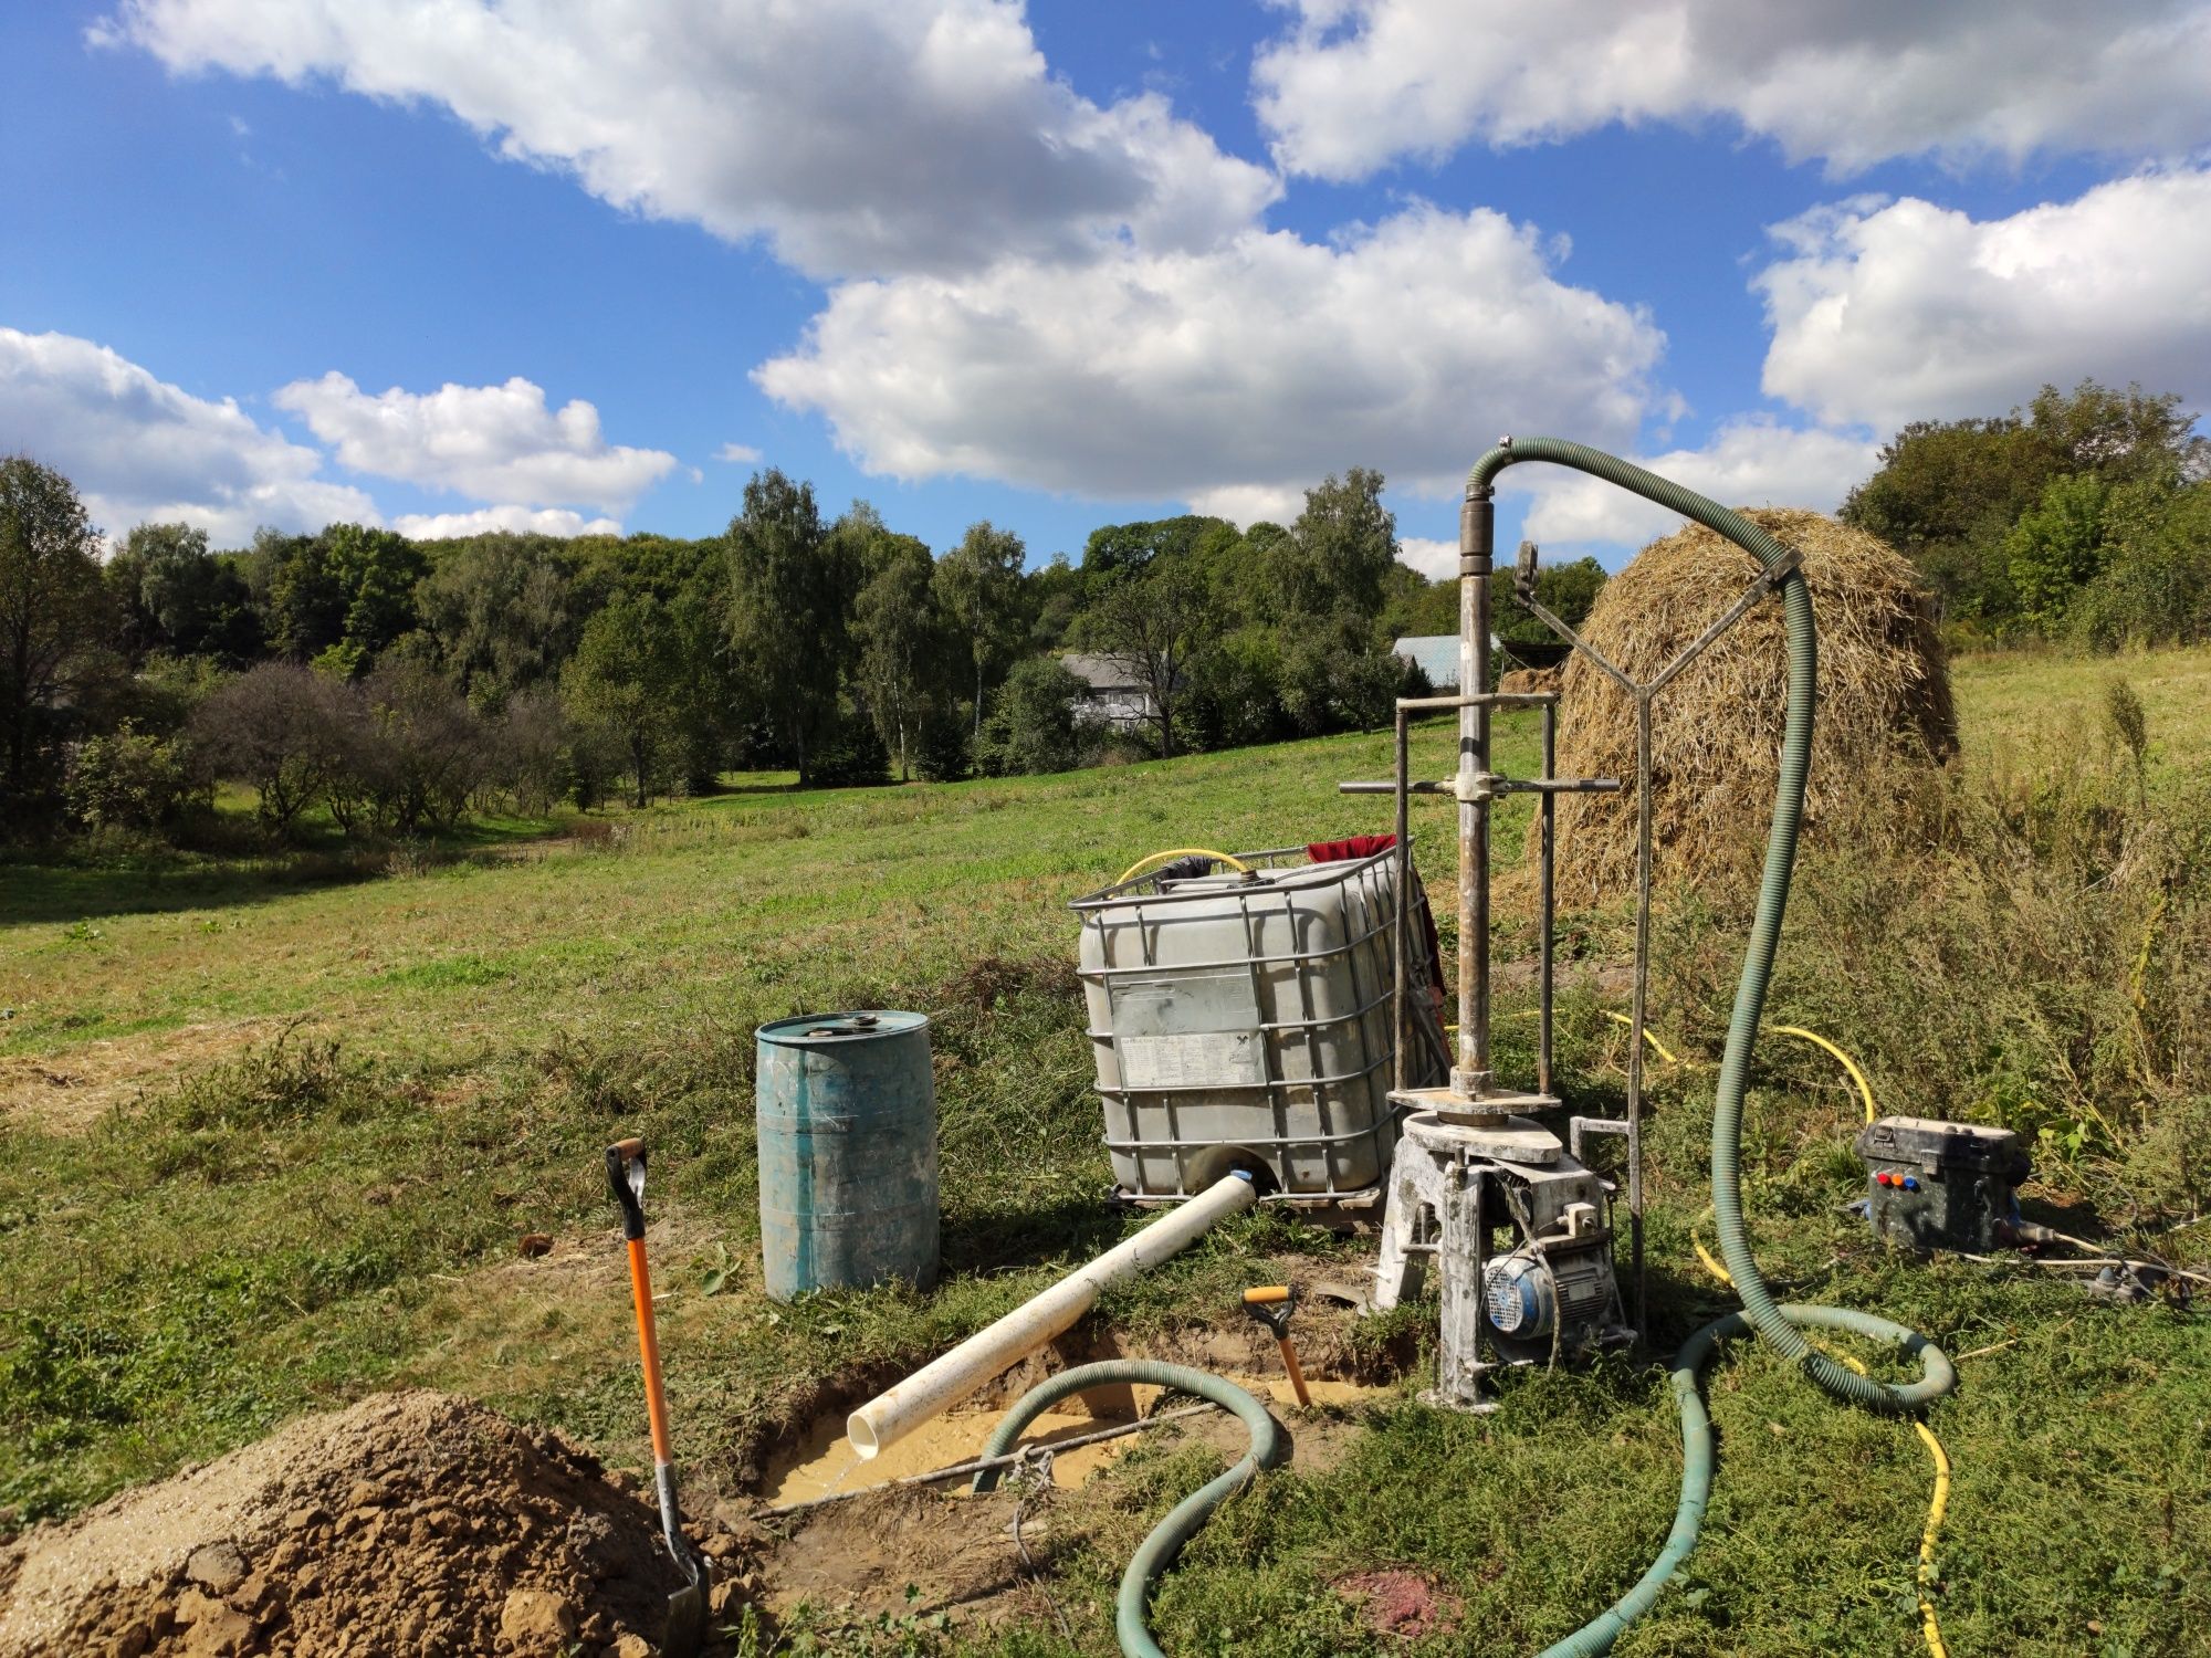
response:
[[[360,524],[219,550],[139,524],[102,557],[75,489],[0,460],[0,721],[15,836],[210,825],[250,785],[268,836],[356,838],[710,791],[730,769],[807,785],[1052,772],[1391,716],[1400,632],[1455,632],[1455,584],[1397,562],[1382,475],[1307,491],[1287,526],[1108,524],[1035,568],[973,524],[942,553],[860,502],[756,473],[723,535]],[[1587,610],[1601,570],[1548,573]],[[1061,657],[1141,688],[1086,712]]]

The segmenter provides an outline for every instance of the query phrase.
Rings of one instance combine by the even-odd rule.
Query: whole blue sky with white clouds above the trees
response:
[[[2200,2],[13,7],[0,451],[111,533],[705,535],[776,464],[1033,559],[1369,464],[1442,568],[1499,431],[1831,508],[2043,380],[2202,407],[2207,144]]]

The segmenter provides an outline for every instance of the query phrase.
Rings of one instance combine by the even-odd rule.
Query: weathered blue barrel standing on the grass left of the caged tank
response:
[[[929,1015],[820,1012],[756,1032],[761,1258],[778,1302],[937,1280]]]

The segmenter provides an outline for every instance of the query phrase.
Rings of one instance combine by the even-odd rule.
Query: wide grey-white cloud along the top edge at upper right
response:
[[[1254,57],[1254,102],[1276,159],[1327,179],[1614,122],[1720,119],[1837,172],[2211,139],[2204,0],[1291,4]]]

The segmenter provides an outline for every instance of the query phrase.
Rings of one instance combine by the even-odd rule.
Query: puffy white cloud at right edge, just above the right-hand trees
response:
[[[1851,201],[1778,228],[1764,389],[1831,424],[2003,413],[2083,376],[2211,398],[2211,172],[1972,219]]]

